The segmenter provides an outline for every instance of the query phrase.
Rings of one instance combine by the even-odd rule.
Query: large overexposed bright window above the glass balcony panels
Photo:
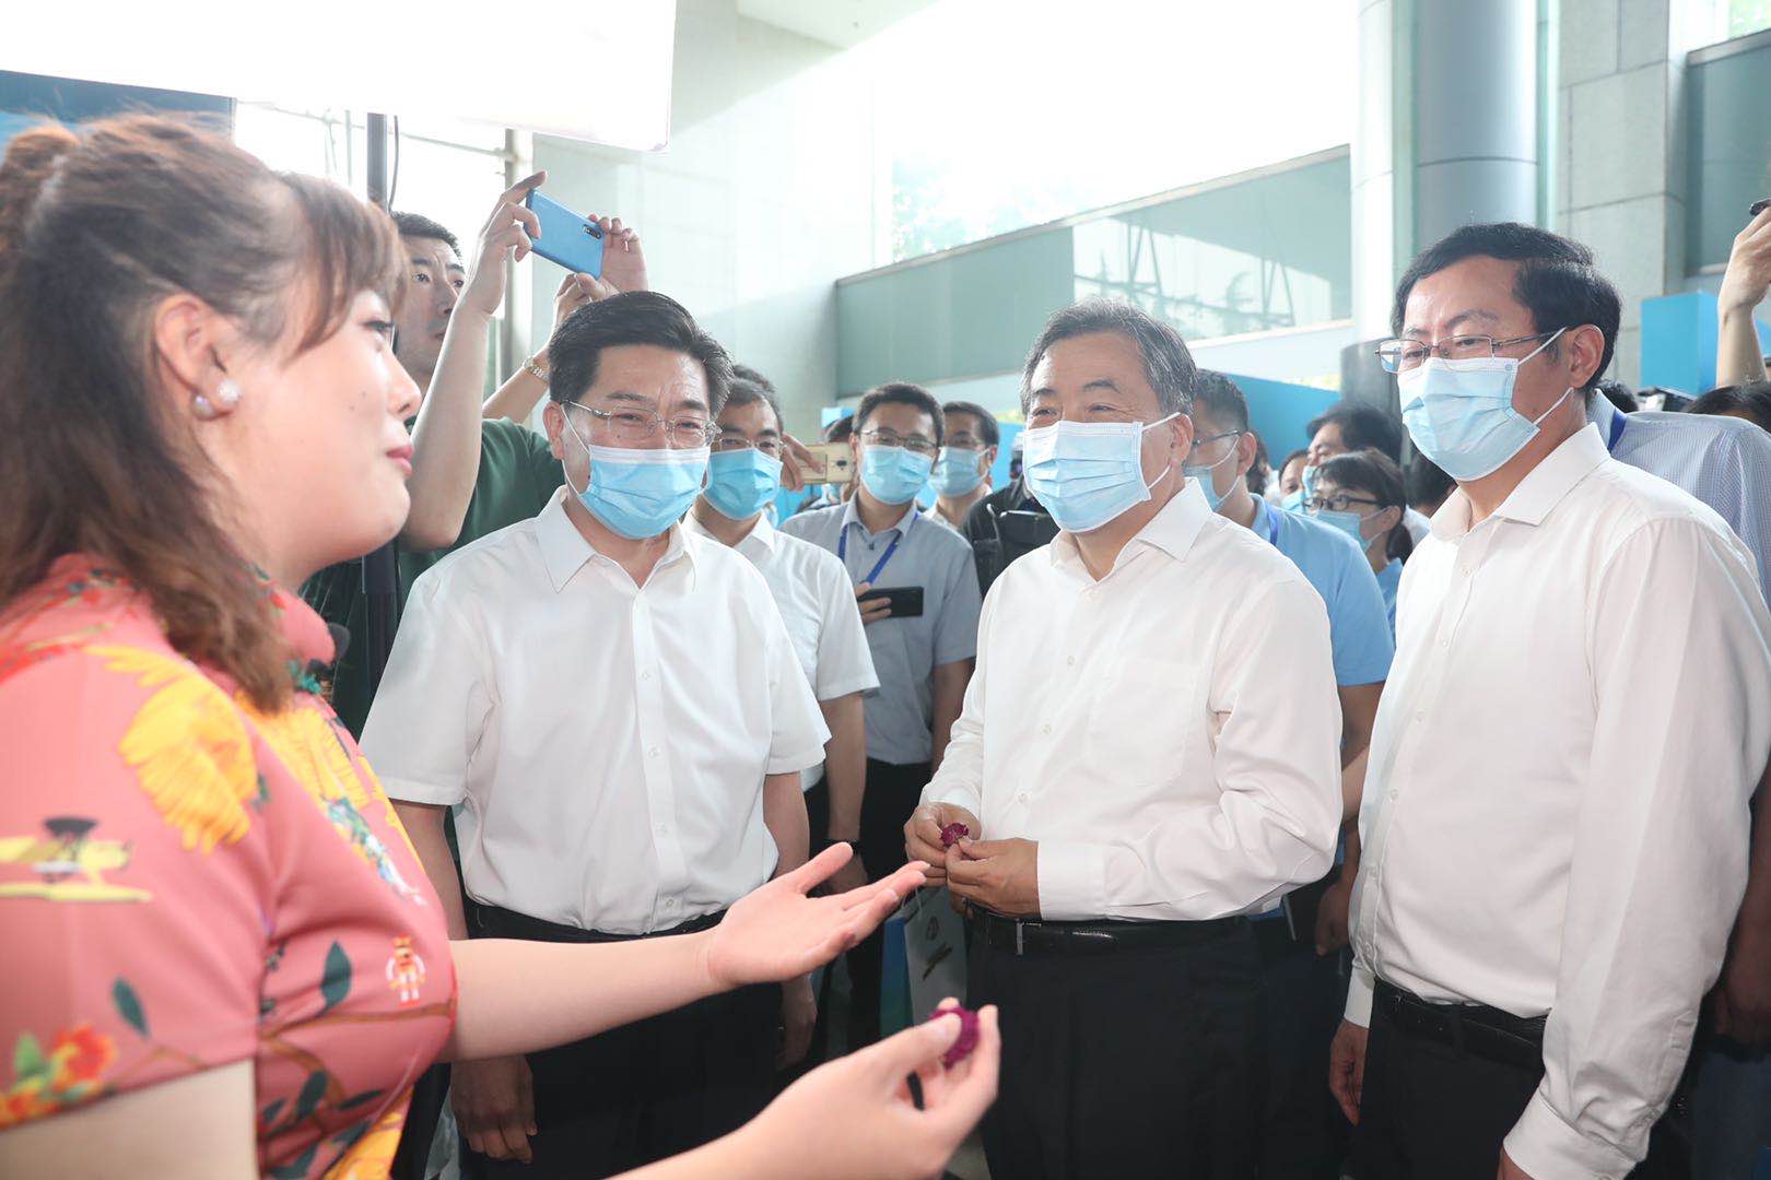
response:
[[[866,42],[893,260],[1346,143],[1355,32],[1321,0],[937,0]]]

